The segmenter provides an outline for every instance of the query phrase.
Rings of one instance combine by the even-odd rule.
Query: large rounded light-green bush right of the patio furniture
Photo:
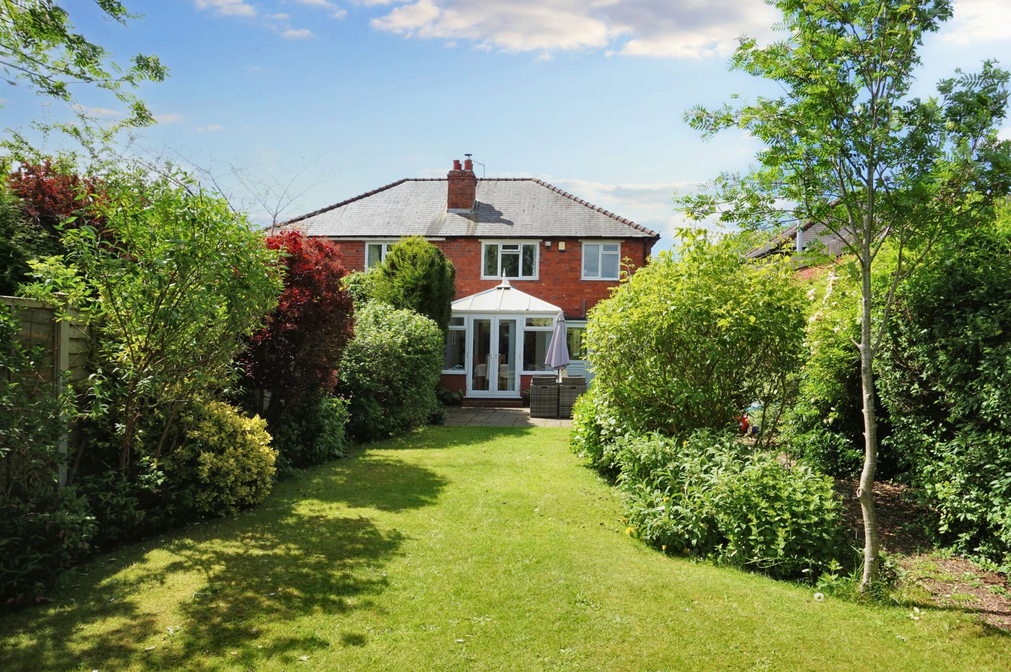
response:
[[[668,436],[728,427],[757,400],[767,437],[803,356],[803,295],[732,236],[682,236],[590,311],[593,385],[619,425]]]

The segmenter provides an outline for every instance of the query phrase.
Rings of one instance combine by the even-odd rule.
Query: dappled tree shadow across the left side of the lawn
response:
[[[165,564],[115,577],[148,556],[141,545],[124,547],[110,554],[114,562],[106,556],[82,568],[73,600],[3,617],[0,669],[255,669],[267,659],[294,665],[328,647],[362,646],[365,633],[288,624],[376,608],[374,596],[388,585],[383,567],[404,538],[319,502],[420,508],[444,486],[435,472],[386,457],[308,469],[239,518],[169,533]]]

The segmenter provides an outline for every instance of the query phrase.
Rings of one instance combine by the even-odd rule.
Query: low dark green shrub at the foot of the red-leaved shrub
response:
[[[273,434],[278,472],[344,457],[349,415],[348,402],[340,397],[304,400],[289,409]]]

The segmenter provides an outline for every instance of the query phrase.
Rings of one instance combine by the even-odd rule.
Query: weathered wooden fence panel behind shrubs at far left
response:
[[[57,310],[48,304],[32,299],[0,297],[0,304],[9,306],[20,321],[18,338],[25,347],[39,347],[38,375],[56,383],[58,391],[67,384],[66,371],[70,371],[70,381],[88,376],[88,330],[80,313],[74,309],[67,311],[67,319],[58,320]],[[60,451],[67,452],[69,436],[64,435]],[[61,469],[60,485],[67,480],[66,469]]]

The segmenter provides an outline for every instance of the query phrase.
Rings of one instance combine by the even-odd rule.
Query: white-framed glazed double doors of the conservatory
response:
[[[467,396],[519,397],[519,340],[517,317],[470,318],[467,342]]]

